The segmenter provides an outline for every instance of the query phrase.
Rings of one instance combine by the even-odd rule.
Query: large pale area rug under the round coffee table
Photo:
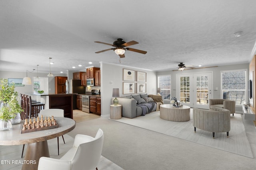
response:
[[[231,115],[229,138],[226,137],[226,133],[215,133],[215,139],[212,138],[212,132],[196,129],[196,133],[194,133],[192,109],[190,110],[190,121],[186,122],[161,119],[159,111],[133,119],[122,117],[115,121],[253,158],[241,116],[243,115],[234,114],[234,117]]]

